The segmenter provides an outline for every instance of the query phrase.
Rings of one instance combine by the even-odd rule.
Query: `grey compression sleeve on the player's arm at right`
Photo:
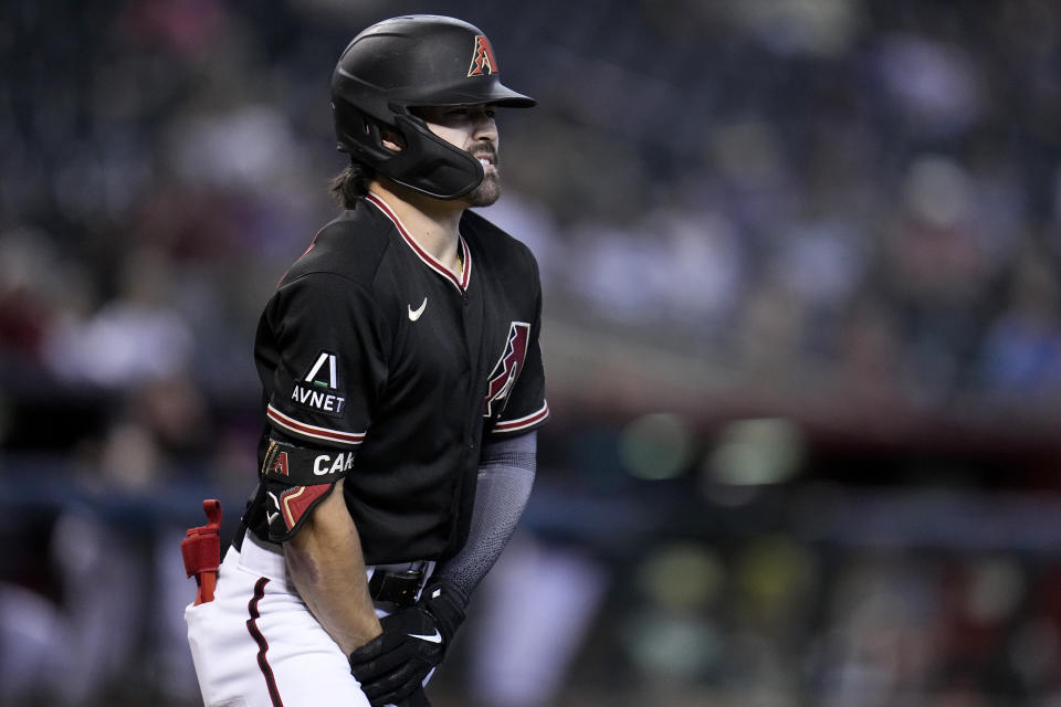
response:
[[[455,584],[471,597],[505,549],[523,515],[534,484],[536,453],[534,431],[498,439],[483,447],[468,542],[435,570],[434,578]]]

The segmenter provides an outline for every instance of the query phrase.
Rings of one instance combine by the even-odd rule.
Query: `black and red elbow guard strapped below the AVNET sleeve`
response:
[[[270,440],[261,472],[269,539],[283,542],[298,532],[309,511],[353,465],[354,452],[308,450]]]

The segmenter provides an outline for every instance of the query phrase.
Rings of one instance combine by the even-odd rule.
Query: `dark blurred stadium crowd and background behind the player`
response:
[[[0,3],[0,537],[17,548],[0,553],[0,703],[42,694],[55,671],[70,679],[43,704],[145,686],[195,703],[176,542],[203,493],[231,525],[250,489],[256,318],[336,211],[334,62],[361,28],[410,11],[481,27],[505,82],[539,101],[501,115],[505,196],[484,215],[539,260],[560,384],[519,561],[496,580],[523,592],[491,605],[534,624],[505,598],[551,595],[551,581],[542,605],[566,619],[537,626],[568,631],[564,647],[528,637],[529,655],[476,658],[469,639],[468,680],[495,705],[560,704],[571,675],[586,680],[566,699],[607,685],[596,659],[635,666],[638,685],[675,705],[1058,704],[1058,558],[1021,540],[1054,537],[1036,525],[1057,515],[1049,499],[1001,520],[960,506],[1002,529],[958,557],[929,551],[960,546],[954,532],[928,547],[900,532],[881,556],[864,550],[872,537],[838,549],[857,523],[824,536],[704,525],[777,518],[769,494],[746,488],[801,493],[807,465],[802,478],[778,472],[798,466],[795,443],[723,454],[711,398],[689,383],[704,401],[700,416],[683,410],[700,452],[668,456],[671,428],[650,420],[638,461],[623,440],[644,426],[631,433],[609,407],[617,389],[693,371],[731,402],[768,389],[789,411],[828,399],[1049,428],[1061,408],[1061,4],[1049,0]],[[650,355],[612,361],[601,386],[617,351]],[[659,391],[633,400],[634,412],[668,404]],[[851,419],[865,420],[829,422]],[[890,425],[882,412],[864,432]],[[799,458],[813,461],[807,444]],[[1055,464],[1036,471],[1057,487]],[[587,489],[609,475],[618,505],[595,505]],[[965,485],[987,494],[983,482]],[[668,519],[685,524],[661,523],[675,497],[692,506]],[[853,500],[816,503],[829,516]],[[580,520],[557,521],[557,507]],[[621,542],[601,540],[611,524],[630,526]],[[532,658],[534,679],[518,669]]]

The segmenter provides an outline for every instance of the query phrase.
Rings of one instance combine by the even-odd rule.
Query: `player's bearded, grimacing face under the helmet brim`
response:
[[[483,166],[483,181],[461,198],[470,207],[489,207],[501,196],[495,112],[496,106],[489,103],[417,109],[428,129],[450,145],[470,152]]]

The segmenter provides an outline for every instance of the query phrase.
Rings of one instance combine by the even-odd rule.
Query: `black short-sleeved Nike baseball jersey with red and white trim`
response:
[[[260,464],[271,437],[342,472],[369,564],[456,552],[484,440],[548,416],[537,263],[474,212],[460,233],[459,278],[369,194],[321,230],[259,324]],[[244,521],[267,538],[270,515],[259,493]]]

